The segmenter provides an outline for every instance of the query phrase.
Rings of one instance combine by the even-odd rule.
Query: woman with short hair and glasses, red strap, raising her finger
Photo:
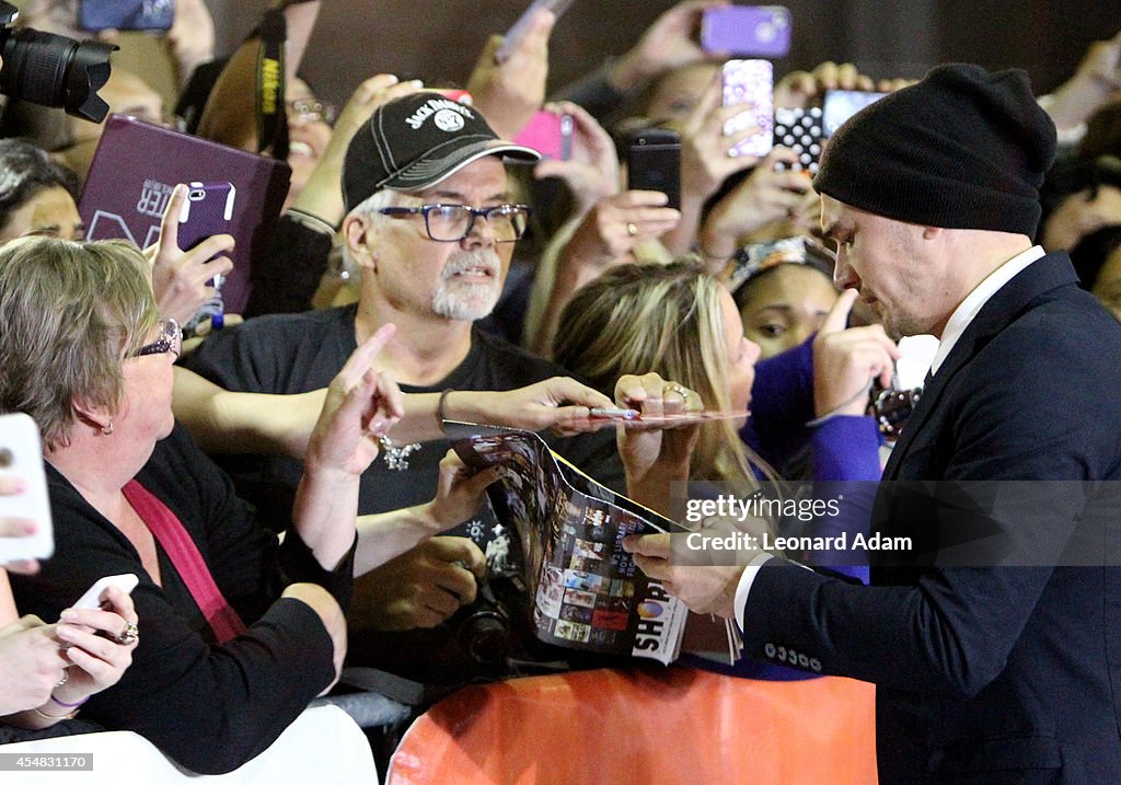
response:
[[[396,386],[370,364],[392,326],[332,384],[278,544],[175,425],[182,334],[159,317],[149,276],[119,241],[21,238],[0,249],[0,412],[39,426],[56,544],[12,589],[25,612],[57,618],[98,579],[137,574],[126,617],[137,625],[126,637],[140,637],[133,664],[83,715],[221,774],[269,747],[339,676],[358,481],[400,410]]]

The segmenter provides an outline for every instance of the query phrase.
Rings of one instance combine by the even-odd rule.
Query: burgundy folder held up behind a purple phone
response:
[[[111,114],[78,212],[87,239],[123,238],[145,248],[159,236],[160,218],[176,183],[233,183],[230,234],[237,246],[222,296],[229,313],[240,313],[249,298],[250,265],[265,255],[290,175],[284,161]]]

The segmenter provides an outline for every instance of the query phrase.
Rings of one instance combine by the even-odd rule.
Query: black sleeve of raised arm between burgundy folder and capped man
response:
[[[297,313],[312,307],[327,269],[332,238],[288,214],[277,220],[265,257],[254,260],[244,316]]]

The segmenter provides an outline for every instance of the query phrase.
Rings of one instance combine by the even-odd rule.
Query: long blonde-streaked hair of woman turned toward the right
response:
[[[701,395],[705,408],[731,408],[722,284],[694,260],[620,265],[582,287],[565,306],[554,359],[612,395],[624,373],[655,371]],[[689,478],[758,487],[769,467],[740,438],[734,421],[703,423]]]

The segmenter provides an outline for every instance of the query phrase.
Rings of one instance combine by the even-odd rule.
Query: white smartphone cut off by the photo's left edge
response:
[[[0,496],[0,518],[28,518],[36,524],[27,537],[0,537],[0,566],[28,558],[48,558],[55,552],[50,497],[43,468],[39,428],[26,414],[0,415],[0,474],[19,478],[22,493]]]

